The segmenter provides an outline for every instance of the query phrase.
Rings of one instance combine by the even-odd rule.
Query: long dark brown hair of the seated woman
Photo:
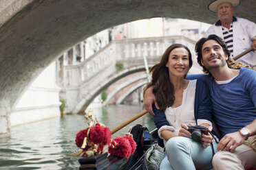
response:
[[[170,47],[167,48],[167,50],[162,55],[162,58],[160,59],[160,62],[156,65],[154,65],[150,72],[152,73],[152,80],[147,86],[144,88],[147,90],[147,88],[153,86],[153,93],[156,96],[156,101],[158,103],[158,106],[160,107],[160,110],[165,110],[167,107],[172,106],[173,102],[175,101],[175,95],[174,95],[174,88],[173,84],[170,82],[169,78],[169,69],[166,66],[169,55],[173,49],[176,48],[184,48],[189,53],[189,69],[192,66],[192,55],[189,51],[189,48],[181,45],[181,44],[173,44]],[[184,78],[186,75],[184,76]]]

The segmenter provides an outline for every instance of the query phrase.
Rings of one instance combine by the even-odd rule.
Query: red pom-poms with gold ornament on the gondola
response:
[[[134,154],[136,142],[131,134],[112,139],[109,127],[98,123],[92,109],[85,114],[85,119],[89,126],[76,134],[76,146],[82,150],[75,155],[82,154],[83,157],[103,154],[105,145],[109,145],[108,152],[113,156],[128,158]]]

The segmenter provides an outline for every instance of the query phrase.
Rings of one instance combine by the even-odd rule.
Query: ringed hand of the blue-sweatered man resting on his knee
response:
[[[235,148],[242,145],[244,141],[246,141],[246,136],[242,136],[240,132],[226,134],[222,140],[220,140],[219,145],[217,145],[217,151],[226,149],[227,151],[234,152]]]

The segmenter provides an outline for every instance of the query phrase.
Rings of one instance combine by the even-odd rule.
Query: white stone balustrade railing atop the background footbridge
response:
[[[152,59],[156,60],[173,43],[182,43],[193,47],[195,42],[183,36],[114,40],[80,64],[72,63],[65,66],[66,80],[64,86],[79,86],[91,80],[98,73],[103,73],[109,66],[118,62],[124,64],[124,67],[136,66],[138,62],[143,62],[143,55],[147,58],[148,62]],[[76,72],[76,75],[80,75],[80,81],[72,80],[72,77],[78,78],[71,75],[72,71]]]

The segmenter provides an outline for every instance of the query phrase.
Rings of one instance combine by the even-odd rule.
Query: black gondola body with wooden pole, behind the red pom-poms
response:
[[[146,113],[147,111],[144,110],[140,114],[136,115],[136,117],[129,119],[125,123],[122,123],[122,125],[112,130],[111,134],[114,134],[125,125],[128,125],[129,123],[138,119],[139,117],[141,117]],[[119,156],[113,156],[107,153],[107,151],[103,152],[102,154],[83,155],[78,159],[78,162],[80,163],[79,169],[80,170],[142,169],[145,153],[152,145],[158,143],[157,129],[149,132],[147,127],[137,124],[137,125],[134,125],[134,127],[131,127],[131,130],[129,130],[129,133],[132,134],[134,141],[136,142],[136,150],[134,151],[134,154],[131,154],[129,156],[129,158],[120,158]]]

